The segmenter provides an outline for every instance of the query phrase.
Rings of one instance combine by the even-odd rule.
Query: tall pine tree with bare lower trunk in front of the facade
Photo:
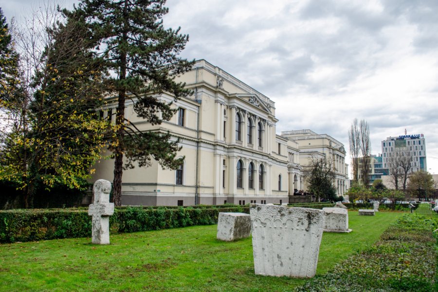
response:
[[[170,141],[169,133],[141,132],[125,119],[127,98],[134,101],[137,116],[154,125],[169,120],[176,111],[172,103],[159,101],[158,94],[166,91],[175,99],[190,94],[185,84],[174,81],[192,66],[178,57],[188,36],[180,34],[179,28],[164,29],[162,17],[168,12],[164,4],[165,0],[82,0],[73,11],[64,10],[66,16],[82,19],[89,27],[110,73],[108,93],[118,98],[116,134],[110,146],[115,158],[116,205],[121,205],[124,168],[134,167],[134,162],[149,166],[151,158],[164,168],[175,169],[182,163],[175,159],[181,149],[178,141]]]

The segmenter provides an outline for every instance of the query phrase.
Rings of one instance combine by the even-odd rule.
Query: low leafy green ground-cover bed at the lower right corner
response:
[[[438,217],[405,214],[371,248],[295,291],[437,291]]]

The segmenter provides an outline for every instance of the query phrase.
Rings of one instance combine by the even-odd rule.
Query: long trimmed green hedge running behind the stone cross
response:
[[[115,208],[114,215],[110,216],[110,233],[216,224],[219,212],[249,213],[249,207]],[[0,211],[0,242],[73,237],[91,237],[91,216],[87,210]]]

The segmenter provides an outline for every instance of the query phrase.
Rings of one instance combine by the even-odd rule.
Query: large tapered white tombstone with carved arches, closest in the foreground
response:
[[[256,274],[310,278],[325,224],[322,210],[251,204]]]

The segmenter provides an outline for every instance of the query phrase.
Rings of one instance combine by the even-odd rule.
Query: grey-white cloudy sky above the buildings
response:
[[[75,1],[67,0],[64,6]],[[7,18],[38,1],[0,0]],[[372,153],[389,136],[424,134],[438,173],[438,1],[167,0],[164,25],[206,59],[275,102],[277,133],[311,129],[348,149],[354,118]],[[348,160],[348,158],[347,158]]]

